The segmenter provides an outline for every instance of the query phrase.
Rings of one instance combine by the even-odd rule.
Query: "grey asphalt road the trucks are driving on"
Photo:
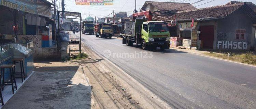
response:
[[[145,51],[117,38],[82,35],[82,42],[173,108],[256,109],[256,67],[172,49]]]

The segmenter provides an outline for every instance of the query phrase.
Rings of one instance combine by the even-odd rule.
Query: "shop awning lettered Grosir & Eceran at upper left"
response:
[[[51,5],[41,0],[0,0],[0,5],[52,18]]]

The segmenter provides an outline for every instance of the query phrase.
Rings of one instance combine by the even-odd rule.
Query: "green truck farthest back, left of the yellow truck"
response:
[[[83,21],[82,33],[94,35],[94,22],[93,21]]]

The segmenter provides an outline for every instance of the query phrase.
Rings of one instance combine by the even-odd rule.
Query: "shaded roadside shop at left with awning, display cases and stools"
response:
[[[51,5],[52,3],[45,0],[1,1],[1,86],[10,87],[10,85],[13,85],[13,83],[7,81],[14,80],[15,85],[17,83],[15,86],[17,88],[17,86],[22,85],[22,82],[24,82],[25,79],[27,80],[27,77],[32,74],[35,56],[34,45],[37,45],[37,47],[42,47],[42,36],[38,35],[39,27],[46,26],[46,20],[52,18]],[[38,46],[39,44],[41,44],[41,46]],[[15,76],[12,78],[11,75]],[[10,88],[4,89],[9,91]],[[2,94],[5,102],[12,96],[8,95],[8,91],[4,91],[4,94]],[[12,89],[12,91],[14,94],[14,89]]]

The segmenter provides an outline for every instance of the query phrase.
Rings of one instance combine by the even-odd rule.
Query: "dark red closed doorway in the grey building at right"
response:
[[[199,40],[202,41],[203,49],[213,49],[214,26],[200,26],[200,31]]]

